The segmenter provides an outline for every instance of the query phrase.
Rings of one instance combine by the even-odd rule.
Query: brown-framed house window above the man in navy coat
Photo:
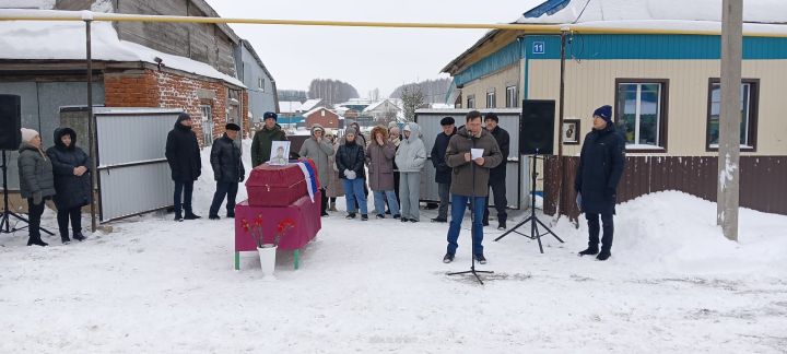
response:
[[[616,80],[615,126],[629,151],[667,151],[668,80]]]

